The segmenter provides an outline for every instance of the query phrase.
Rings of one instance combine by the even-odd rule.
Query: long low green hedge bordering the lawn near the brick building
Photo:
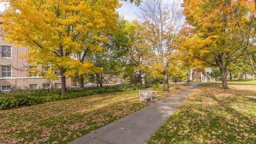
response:
[[[91,96],[95,94],[108,93],[108,92],[120,92],[120,91],[131,91],[138,90],[140,87],[132,86],[132,87],[113,87],[113,88],[101,88],[98,90],[82,90],[79,92],[71,92],[66,95],[43,95],[43,96],[35,96],[33,94],[20,94],[16,96],[0,96],[0,109],[7,108],[18,108],[21,106],[33,106],[39,103],[45,103],[47,101],[55,101],[62,99],[74,99],[78,97]]]

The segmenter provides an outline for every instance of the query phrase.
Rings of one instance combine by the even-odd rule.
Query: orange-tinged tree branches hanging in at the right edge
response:
[[[256,74],[256,0],[233,0],[229,8],[239,29],[237,35],[246,47],[248,62]]]

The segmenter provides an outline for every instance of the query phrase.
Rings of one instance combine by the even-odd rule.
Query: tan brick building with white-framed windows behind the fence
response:
[[[26,70],[39,68],[47,71],[47,67],[31,66],[26,59],[19,59],[18,55],[26,54],[25,47],[15,47],[12,44],[0,39],[0,90],[10,89],[35,89],[35,88],[59,88],[61,80],[49,81],[42,79],[39,75],[29,75]],[[55,74],[60,74],[58,71]],[[66,79],[66,85],[71,86],[71,79]]]

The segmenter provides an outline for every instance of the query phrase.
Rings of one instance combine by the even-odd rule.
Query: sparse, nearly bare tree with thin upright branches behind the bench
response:
[[[155,52],[154,63],[161,67],[156,70],[162,74],[166,90],[166,66],[169,66],[171,56],[175,52],[173,43],[183,20],[180,3],[175,0],[171,4],[165,4],[163,0],[147,0],[140,8],[138,17],[147,28],[147,38]]]

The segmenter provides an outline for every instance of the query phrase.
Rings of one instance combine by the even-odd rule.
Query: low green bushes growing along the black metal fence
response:
[[[0,94],[0,109],[18,108],[20,106],[32,106],[47,101],[62,99],[74,99],[78,97],[90,96],[108,92],[132,91],[141,89],[138,86],[113,86],[102,88],[84,88],[84,89],[67,89],[67,94],[60,95],[60,89],[56,90],[28,90],[19,92],[9,92]]]

